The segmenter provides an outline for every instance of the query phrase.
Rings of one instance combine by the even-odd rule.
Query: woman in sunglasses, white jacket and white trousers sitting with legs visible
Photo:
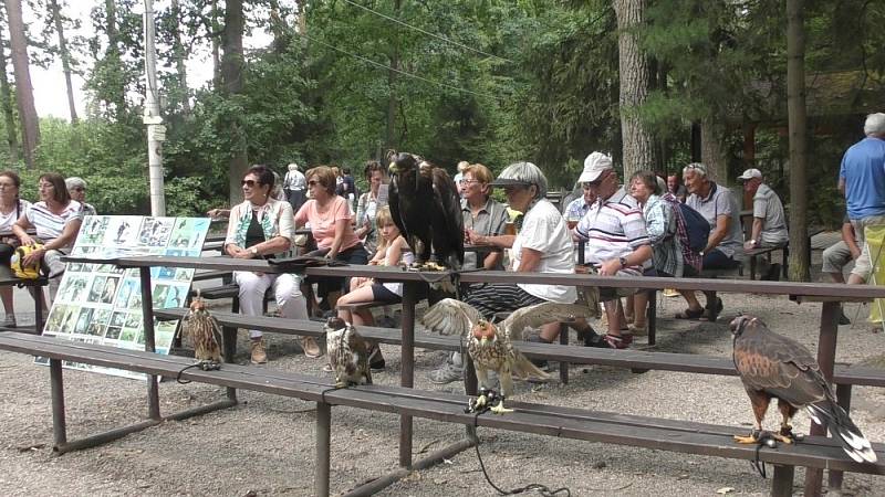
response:
[[[242,179],[246,199],[230,210],[225,252],[235,258],[271,258],[289,252],[295,230],[292,223],[292,205],[271,197],[275,178],[264,166],[252,166]],[[294,274],[268,274],[235,271],[233,281],[239,285],[240,311],[247,316],[261,316],[264,293],[273,287],[280,314],[285,318],[308,319],[308,307],[301,294],[301,281]],[[268,361],[260,330],[249,330],[252,363]],[[319,357],[320,348],[313,338],[302,339],[302,348],[309,357]]]

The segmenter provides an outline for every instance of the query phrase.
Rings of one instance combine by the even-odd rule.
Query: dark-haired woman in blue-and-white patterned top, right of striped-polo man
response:
[[[677,233],[676,212],[660,194],[666,188],[664,180],[652,171],[638,171],[629,181],[629,194],[639,203],[645,219],[645,231],[652,244],[652,262],[657,276],[683,276],[683,248]],[[648,293],[639,292],[633,296],[633,335],[648,335],[645,321]]]

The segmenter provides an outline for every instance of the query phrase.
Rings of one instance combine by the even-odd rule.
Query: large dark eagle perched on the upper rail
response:
[[[413,267],[460,269],[464,221],[455,181],[418,156],[392,152],[389,159],[391,216],[415,254]]]

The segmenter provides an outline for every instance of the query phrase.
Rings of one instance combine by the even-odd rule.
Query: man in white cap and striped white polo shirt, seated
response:
[[[643,211],[636,199],[620,187],[612,158],[593,152],[584,161],[579,178],[582,187],[598,199],[575,228],[586,239],[586,262],[603,276],[642,276],[652,268],[652,245],[645,231]],[[633,292],[618,293],[632,295]],[[608,332],[603,337],[615,349],[626,348],[633,337],[623,334],[627,320],[620,299],[605,303]]]

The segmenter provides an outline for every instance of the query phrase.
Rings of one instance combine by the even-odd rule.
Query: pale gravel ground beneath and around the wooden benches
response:
[[[770,328],[816,347],[819,304],[784,298],[726,295],[719,324],[669,319],[683,308],[663,298],[655,350],[730,356],[727,322],[752,311]],[[883,334],[863,322],[866,308],[847,305],[856,322],[841,327],[837,360],[882,364]],[[296,353],[293,340],[270,336],[267,368],[323,374],[323,361]],[[642,347],[642,343],[638,345]],[[243,350],[241,347],[240,350]],[[397,347],[384,346],[387,370],[378,383],[397,384]],[[416,351],[416,387],[439,389],[428,373],[442,352]],[[242,358],[246,359],[244,357]],[[737,378],[650,371],[633,374],[604,367],[574,367],[569,385],[519,384],[517,396],[530,402],[581,406],[628,414],[709,422],[748,430],[749,401]],[[146,413],[145,388],[134,380],[65,371],[69,438],[136,422]],[[447,390],[459,391],[460,385]],[[314,406],[309,402],[240,392],[242,403],[184,422],[169,422],[102,447],[53,456],[49,370],[28,357],[0,352],[0,494],[2,495],[311,495],[314,474]],[[208,385],[160,385],[162,410],[170,413],[223,395]],[[853,419],[873,441],[885,441],[885,391],[855,388]],[[770,413],[768,425],[777,424]],[[806,432],[808,416],[796,417]],[[464,427],[415,421],[414,452],[440,448]],[[486,467],[501,488],[538,483],[569,487],[571,495],[707,496],[717,491],[767,495],[747,462],[709,458],[559,440],[480,429]],[[397,464],[398,417],[347,408],[333,410],[332,491],[343,494]],[[795,491],[804,472],[796,468]],[[444,464],[414,472],[381,495],[496,495],[485,482],[472,450]],[[843,495],[885,495],[885,478],[845,476]]]

